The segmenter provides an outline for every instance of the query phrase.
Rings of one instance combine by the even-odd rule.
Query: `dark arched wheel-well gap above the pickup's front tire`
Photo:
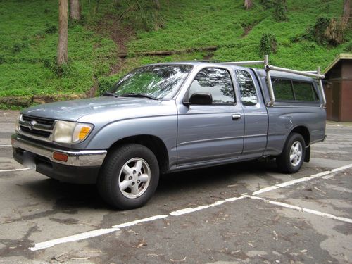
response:
[[[129,143],[136,143],[136,144],[141,144],[143,146],[146,146],[156,156],[158,160],[160,172],[165,173],[168,171],[168,163],[169,163],[168,151],[163,141],[158,137],[147,135],[147,134],[142,134],[142,135],[132,136],[132,137],[125,137],[124,139],[120,139],[117,142],[115,142],[113,145],[111,145],[108,151],[111,151],[112,149],[115,149],[118,146],[121,146],[122,144],[129,144]]]

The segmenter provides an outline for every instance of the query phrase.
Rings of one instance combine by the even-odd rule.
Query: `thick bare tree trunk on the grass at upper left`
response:
[[[58,0],[58,65],[68,62],[68,0]]]

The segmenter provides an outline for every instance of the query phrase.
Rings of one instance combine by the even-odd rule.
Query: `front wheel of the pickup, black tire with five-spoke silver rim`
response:
[[[125,144],[108,153],[97,186],[103,199],[120,210],[144,206],[159,181],[158,160],[140,144]]]

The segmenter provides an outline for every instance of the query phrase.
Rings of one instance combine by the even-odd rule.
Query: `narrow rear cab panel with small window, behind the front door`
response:
[[[267,144],[268,112],[259,84],[251,71],[235,70],[241,103],[244,108],[243,158],[263,155]]]

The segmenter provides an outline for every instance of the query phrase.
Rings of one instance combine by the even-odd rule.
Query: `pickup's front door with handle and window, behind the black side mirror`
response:
[[[211,94],[213,103],[191,104],[179,112],[177,165],[238,158],[243,149],[244,113],[236,103],[230,72],[203,68],[188,93],[189,98],[195,93]]]

